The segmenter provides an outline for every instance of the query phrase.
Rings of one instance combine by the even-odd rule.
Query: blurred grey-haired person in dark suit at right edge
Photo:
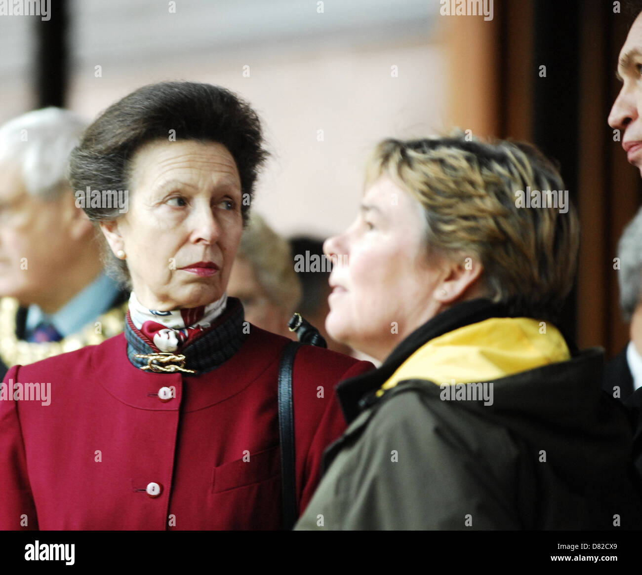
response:
[[[642,208],[625,228],[618,245],[620,307],[629,323],[629,343],[607,363],[604,389],[625,401],[642,388]]]

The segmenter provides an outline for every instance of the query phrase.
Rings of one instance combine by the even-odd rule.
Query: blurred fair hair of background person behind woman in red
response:
[[[290,243],[258,214],[250,215],[237,257],[250,262],[257,281],[273,304],[294,313],[301,300],[302,288],[294,271]]]

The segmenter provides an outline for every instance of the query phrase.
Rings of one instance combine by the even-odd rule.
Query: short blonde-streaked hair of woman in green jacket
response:
[[[447,137],[380,142],[366,187],[388,175],[423,207],[428,255],[482,264],[487,297],[514,313],[555,320],[577,268],[579,222],[553,207],[517,207],[516,192],[564,190],[536,148]]]

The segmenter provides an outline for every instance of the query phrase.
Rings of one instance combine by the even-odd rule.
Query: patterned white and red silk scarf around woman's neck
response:
[[[174,311],[148,309],[138,301],[135,293],[129,298],[129,314],[132,323],[161,352],[175,352],[200,334],[220,316],[227,304],[227,293],[209,305],[187,307]]]

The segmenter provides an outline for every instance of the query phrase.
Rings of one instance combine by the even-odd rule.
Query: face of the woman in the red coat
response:
[[[139,301],[167,311],[220,298],[243,232],[241,180],[227,148],[149,142],[130,173],[128,212],[102,227],[114,253],[126,253]]]

